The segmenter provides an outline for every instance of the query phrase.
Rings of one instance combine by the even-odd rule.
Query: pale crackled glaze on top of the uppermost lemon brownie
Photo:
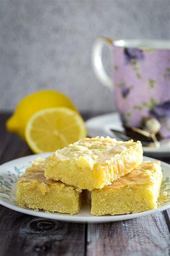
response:
[[[138,142],[139,143],[139,142]],[[55,152],[56,159],[64,161],[73,158],[77,161],[90,161],[93,163],[105,163],[109,161],[115,154],[121,154],[128,148],[138,143],[129,140],[128,142],[117,141],[109,136],[104,138],[103,136],[95,138],[84,138],[78,142],[69,144],[67,147],[58,149]],[[79,164],[78,164],[79,166]]]

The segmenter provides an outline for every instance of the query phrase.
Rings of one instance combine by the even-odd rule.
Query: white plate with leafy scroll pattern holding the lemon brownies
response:
[[[140,212],[137,214],[125,214],[125,215],[105,215],[105,216],[92,216],[90,214],[90,206],[85,205],[78,214],[61,214],[61,213],[46,213],[45,211],[34,211],[27,207],[20,207],[15,202],[15,192],[16,192],[16,181],[20,175],[23,174],[25,168],[29,163],[35,160],[37,157],[45,158],[49,156],[50,153],[36,154],[27,157],[22,157],[15,159],[13,161],[4,163],[0,166],[0,203],[12,210],[22,212],[24,214],[29,214],[38,217],[44,217],[48,219],[55,219],[60,221],[69,222],[89,222],[89,223],[99,223],[99,222],[110,222],[127,220],[140,216],[145,216],[148,214],[153,214],[156,212],[164,211],[170,208],[170,166],[167,163],[161,162],[163,170],[163,184],[162,192],[167,191],[168,195],[164,201],[161,201],[160,206],[151,211]],[[144,160],[154,160],[150,157],[144,157]],[[161,193],[162,193],[161,192]]]

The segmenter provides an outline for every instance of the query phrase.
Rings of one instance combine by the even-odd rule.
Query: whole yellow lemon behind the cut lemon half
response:
[[[41,109],[54,107],[67,107],[77,111],[75,105],[66,95],[55,90],[37,91],[18,103],[14,114],[6,121],[6,129],[25,140],[24,131],[29,118]]]

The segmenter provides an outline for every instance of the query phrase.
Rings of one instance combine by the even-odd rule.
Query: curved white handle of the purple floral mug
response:
[[[103,66],[102,50],[104,45],[113,46],[113,40],[101,36],[96,39],[92,49],[92,64],[95,75],[101,84],[113,90],[113,80],[108,76]]]

